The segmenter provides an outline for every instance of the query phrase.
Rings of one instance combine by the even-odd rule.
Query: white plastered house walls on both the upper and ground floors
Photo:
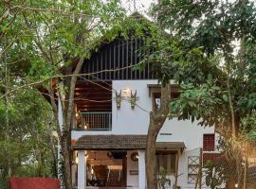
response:
[[[125,88],[131,89],[133,92],[137,90],[137,105],[134,110],[126,99],[121,102],[118,110],[116,101],[112,102],[112,130],[110,131],[72,131],[72,139],[78,139],[84,134],[147,134],[149,126],[149,112],[152,109],[152,100],[149,96],[147,84],[156,84],[156,80],[113,80],[113,88],[116,91]],[[122,94],[124,95],[124,94]],[[115,93],[113,93],[115,98]],[[167,120],[160,130],[157,137],[159,142],[184,142],[186,148],[180,156],[178,184],[181,188],[193,188],[194,184],[188,184],[188,157],[199,156],[199,147],[203,146],[203,134],[214,133],[213,128],[202,128],[197,125],[198,122],[190,120],[178,121],[176,118]],[[162,135],[168,134],[168,135]],[[130,153],[127,154],[127,185],[138,185],[138,177],[130,176],[129,170],[136,170],[137,163],[132,162]],[[173,183],[172,183],[173,185]]]

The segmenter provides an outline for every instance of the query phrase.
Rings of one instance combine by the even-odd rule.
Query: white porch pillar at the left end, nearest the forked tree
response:
[[[78,189],[85,189],[86,183],[86,160],[85,151],[78,151]]]

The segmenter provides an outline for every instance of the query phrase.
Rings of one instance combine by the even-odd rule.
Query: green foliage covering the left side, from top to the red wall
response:
[[[49,126],[52,107],[37,88],[44,87],[47,93],[47,78],[55,81],[58,76],[71,75],[77,60],[97,51],[102,36],[107,43],[119,35],[125,12],[118,0],[14,0],[1,1],[0,14],[0,59],[4,62],[0,64],[0,166],[5,169],[4,179],[10,174],[53,177],[56,141],[52,141],[51,129],[56,126]],[[70,94],[70,78],[61,77],[65,96]],[[13,89],[20,90],[7,94]]]

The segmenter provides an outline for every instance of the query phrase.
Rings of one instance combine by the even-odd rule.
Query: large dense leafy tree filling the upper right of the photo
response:
[[[158,48],[149,58],[160,82],[174,79],[181,87],[178,99],[161,100],[163,107],[170,103],[164,115],[200,120],[202,126],[214,126],[223,136],[237,139],[241,120],[255,110],[255,12],[255,5],[248,1],[166,0],[153,7],[157,22],[170,30],[175,43],[161,45],[164,40],[156,38]],[[242,44],[239,53],[234,42]],[[174,45],[177,51],[170,50]],[[161,123],[156,122],[151,143]],[[148,150],[151,144],[147,145]],[[153,157],[154,150],[150,154]],[[155,188],[154,167],[150,168],[154,160],[146,163],[151,169],[147,170],[148,188]]]

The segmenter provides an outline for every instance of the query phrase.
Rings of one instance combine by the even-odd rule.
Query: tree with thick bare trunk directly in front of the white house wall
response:
[[[150,113],[146,147],[147,188],[153,189],[157,185],[155,166],[152,166],[152,164],[155,164],[155,141],[159,130],[170,114],[169,106],[172,100],[170,80],[181,74],[177,72],[178,63],[188,64],[188,62],[195,62],[201,58],[198,55],[198,49],[184,48],[182,43],[174,36],[166,33],[156,24],[151,23],[148,31],[149,35],[143,38],[145,43],[140,49],[144,59],[139,65],[143,69],[144,65],[150,62],[153,74],[158,78],[158,82],[161,85],[160,107],[158,109],[153,108]]]

